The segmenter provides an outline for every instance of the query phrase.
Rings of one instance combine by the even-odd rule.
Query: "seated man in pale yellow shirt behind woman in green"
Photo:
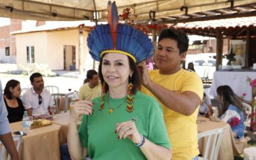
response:
[[[88,70],[86,74],[88,83],[83,84],[79,89],[79,100],[92,100],[101,95],[101,84],[95,70]]]

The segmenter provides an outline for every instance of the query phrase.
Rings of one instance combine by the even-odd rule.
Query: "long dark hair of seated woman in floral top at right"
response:
[[[240,102],[239,97],[233,92],[230,86],[219,86],[217,88],[217,93],[220,95],[220,108],[218,116],[223,115],[225,111],[227,111],[229,104],[233,104],[245,114],[243,104]]]

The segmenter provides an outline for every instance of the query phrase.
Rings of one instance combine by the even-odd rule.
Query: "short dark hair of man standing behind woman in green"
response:
[[[184,31],[175,28],[163,29],[159,35],[158,43],[164,38],[170,38],[172,40],[177,40],[177,47],[181,54],[182,52],[188,51],[189,38],[184,33]]]

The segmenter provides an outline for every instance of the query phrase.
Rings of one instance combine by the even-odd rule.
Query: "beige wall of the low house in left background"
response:
[[[93,60],[87,47],[88,32],[84,31],[83,38],[83,69],[92,69]],[[78,29],[62,31],[42,31],[36,33],[17,34],[17,64],[27,64],[26,46],[35,47],[35,63],[47,63],[52,70],[64,68],[64,46],[76,46],[76,69],[79,68],[79,35]],[[21,69],[21,68],[18,68]]]

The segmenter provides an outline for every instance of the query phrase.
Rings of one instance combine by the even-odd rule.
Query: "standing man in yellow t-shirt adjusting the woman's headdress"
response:
[[[195,72],[180,67],[188,51],[188,36],[177,29],[164,29],[154,55],[158,70],[147,70],[141,63],[143,88],[163,107],[164,121],[172,143],[172,159],[197,159],[196,117],[204,88]]]

